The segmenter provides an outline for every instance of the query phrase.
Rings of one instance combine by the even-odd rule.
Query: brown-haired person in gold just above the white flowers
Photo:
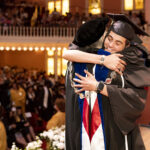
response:
[[[49,130],[54,127],[60,127],[65,124],[65,99],[57,98],[55,101],[54,108],[56,109],[56,114],[48,121],[46,129]]]

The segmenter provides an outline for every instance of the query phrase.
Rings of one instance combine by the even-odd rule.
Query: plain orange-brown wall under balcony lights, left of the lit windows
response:
[[[0,52],[0,66],[18,66],[45,70],[46,51],[2,51]]]

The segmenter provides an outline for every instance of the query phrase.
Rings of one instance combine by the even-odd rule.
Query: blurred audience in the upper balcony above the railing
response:
[[[5,1],[5,0],[3,0]],[[3,5],[2,5],[3,4]],[[53,12],[49,13],[45,7],[37,5],[29,5],[25,2],[23,3],[10,3],[1,2],[0,5],[0,25],[1,26],[61,26],[61,27],[79,27],[82,23],[104,16],[105,14],[92,15],[85,13],[66,13],[66,15],[61,15],[56,8]],[[133,12],[129,11],[129,18],[137,25],[144,28],[146,24],[145,16],[142,11]]]

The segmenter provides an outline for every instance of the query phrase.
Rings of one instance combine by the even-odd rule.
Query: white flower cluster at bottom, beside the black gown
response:
[[[65,125],[60,128],[56,127],[48,131],[44,131],[36,137],[36,141],[28,143],[25,150],[42,150],[42,140],[47,141],[48,150],[64,150],[65,149]],[[11,150],[19,149],[15,143],[13,143]]]

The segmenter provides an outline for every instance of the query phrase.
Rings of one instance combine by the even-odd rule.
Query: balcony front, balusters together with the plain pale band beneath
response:
[[[0,26],[1,43],[70,43],[75,36],[75,27],[23,27]],[[146,26],[150,35],[150,25]],[[150,49],[150,37],[141,37]]]

